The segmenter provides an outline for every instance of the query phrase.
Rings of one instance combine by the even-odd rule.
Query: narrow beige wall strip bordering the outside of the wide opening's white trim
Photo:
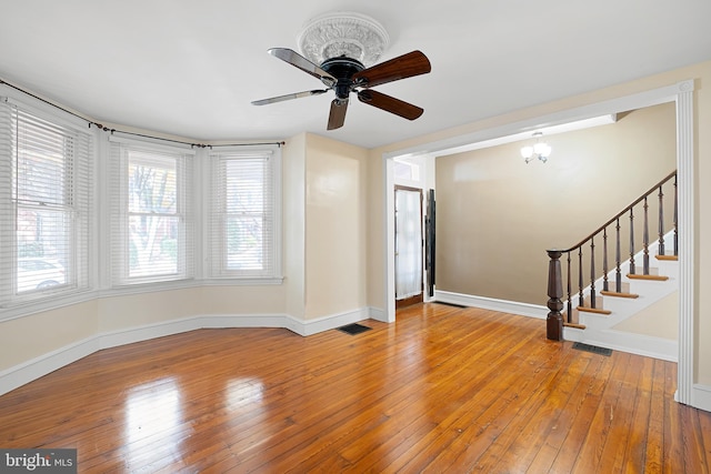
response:
[[[383,153],[424,145],[481,130],[491,130],[497,127],[534,119],[537,117],[668,87],[689,79],[695,80],[693,104],[695,109],[694,162],[697,180],[694,183],[694,226],[697,248],[694,249],[694,254],[697,261],[694,262],[695,274],[693,285],[698,301],[694,302],[694,327],[697,335],[697,341],[694,342],[694,374],[698,383],[711,385],[711,292],[704,292],[702,290],[711,288],[711,249],[709,249],[708,245],[701,244],[704,239],[708,240],[709,235],[711,235],[711,206],[708,204],[704,205],[711,202],[711,133],[707,132],[711,130],[711,89],[709,89],[708,85],[709,82],[711,82],[711,61],[371,150],[370,179],[373,180],[373,182],[369,185],[371,188],[379,186],[384,189],[384,177],[381,164]],[[369,211],[372,216],[370,221],[372,228],[369,230],[368,242],[370,255],[368,278],[369,281],[377,282],[379,280],[382,281],[384,274],[385,230],[382,215],[384,199],[382,192],[372,193],[370,198]],[[384,310],[387,307],[384,284],[371,284],[369,285],[369,290],[368,296],[370,305]]]

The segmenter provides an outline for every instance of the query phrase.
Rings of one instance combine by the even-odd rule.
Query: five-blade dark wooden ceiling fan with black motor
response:
[[[287,48],[272,48],[269,53],[316,77],[327,88],[256,100],[252,102],[254,105],[320,95],[332,90],[336,92],[336,99],[331,101],[328,130],[343,127],[351,92],[356,92],[358,100],[363,103],[408,120],[414,120],[424,112],[424,109],[370,89],[387,82],[430,72],[430,61],[421,51],[412,51],[370,68],[365,68],[360,61],[346,56],[327,59],[319,67]]]

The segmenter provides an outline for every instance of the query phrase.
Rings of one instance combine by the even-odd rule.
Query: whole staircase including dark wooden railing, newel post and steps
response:
[[[677,361],[677,209],[674,171],[578,244],[548,251],[549,340]]]

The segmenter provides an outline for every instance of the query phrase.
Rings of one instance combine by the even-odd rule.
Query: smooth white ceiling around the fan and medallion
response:
[[[0,0],[0,79],[97,121],[200,142],[308,131],[373,148],[711,59],[709,0]],[[379,62],[421,50],[425,75],[377,90],[424,109],[408,121],[332,93],[267,53],[298,50],[310,19],[382,23]],[[691,79],[691,78],[690,78]]]

